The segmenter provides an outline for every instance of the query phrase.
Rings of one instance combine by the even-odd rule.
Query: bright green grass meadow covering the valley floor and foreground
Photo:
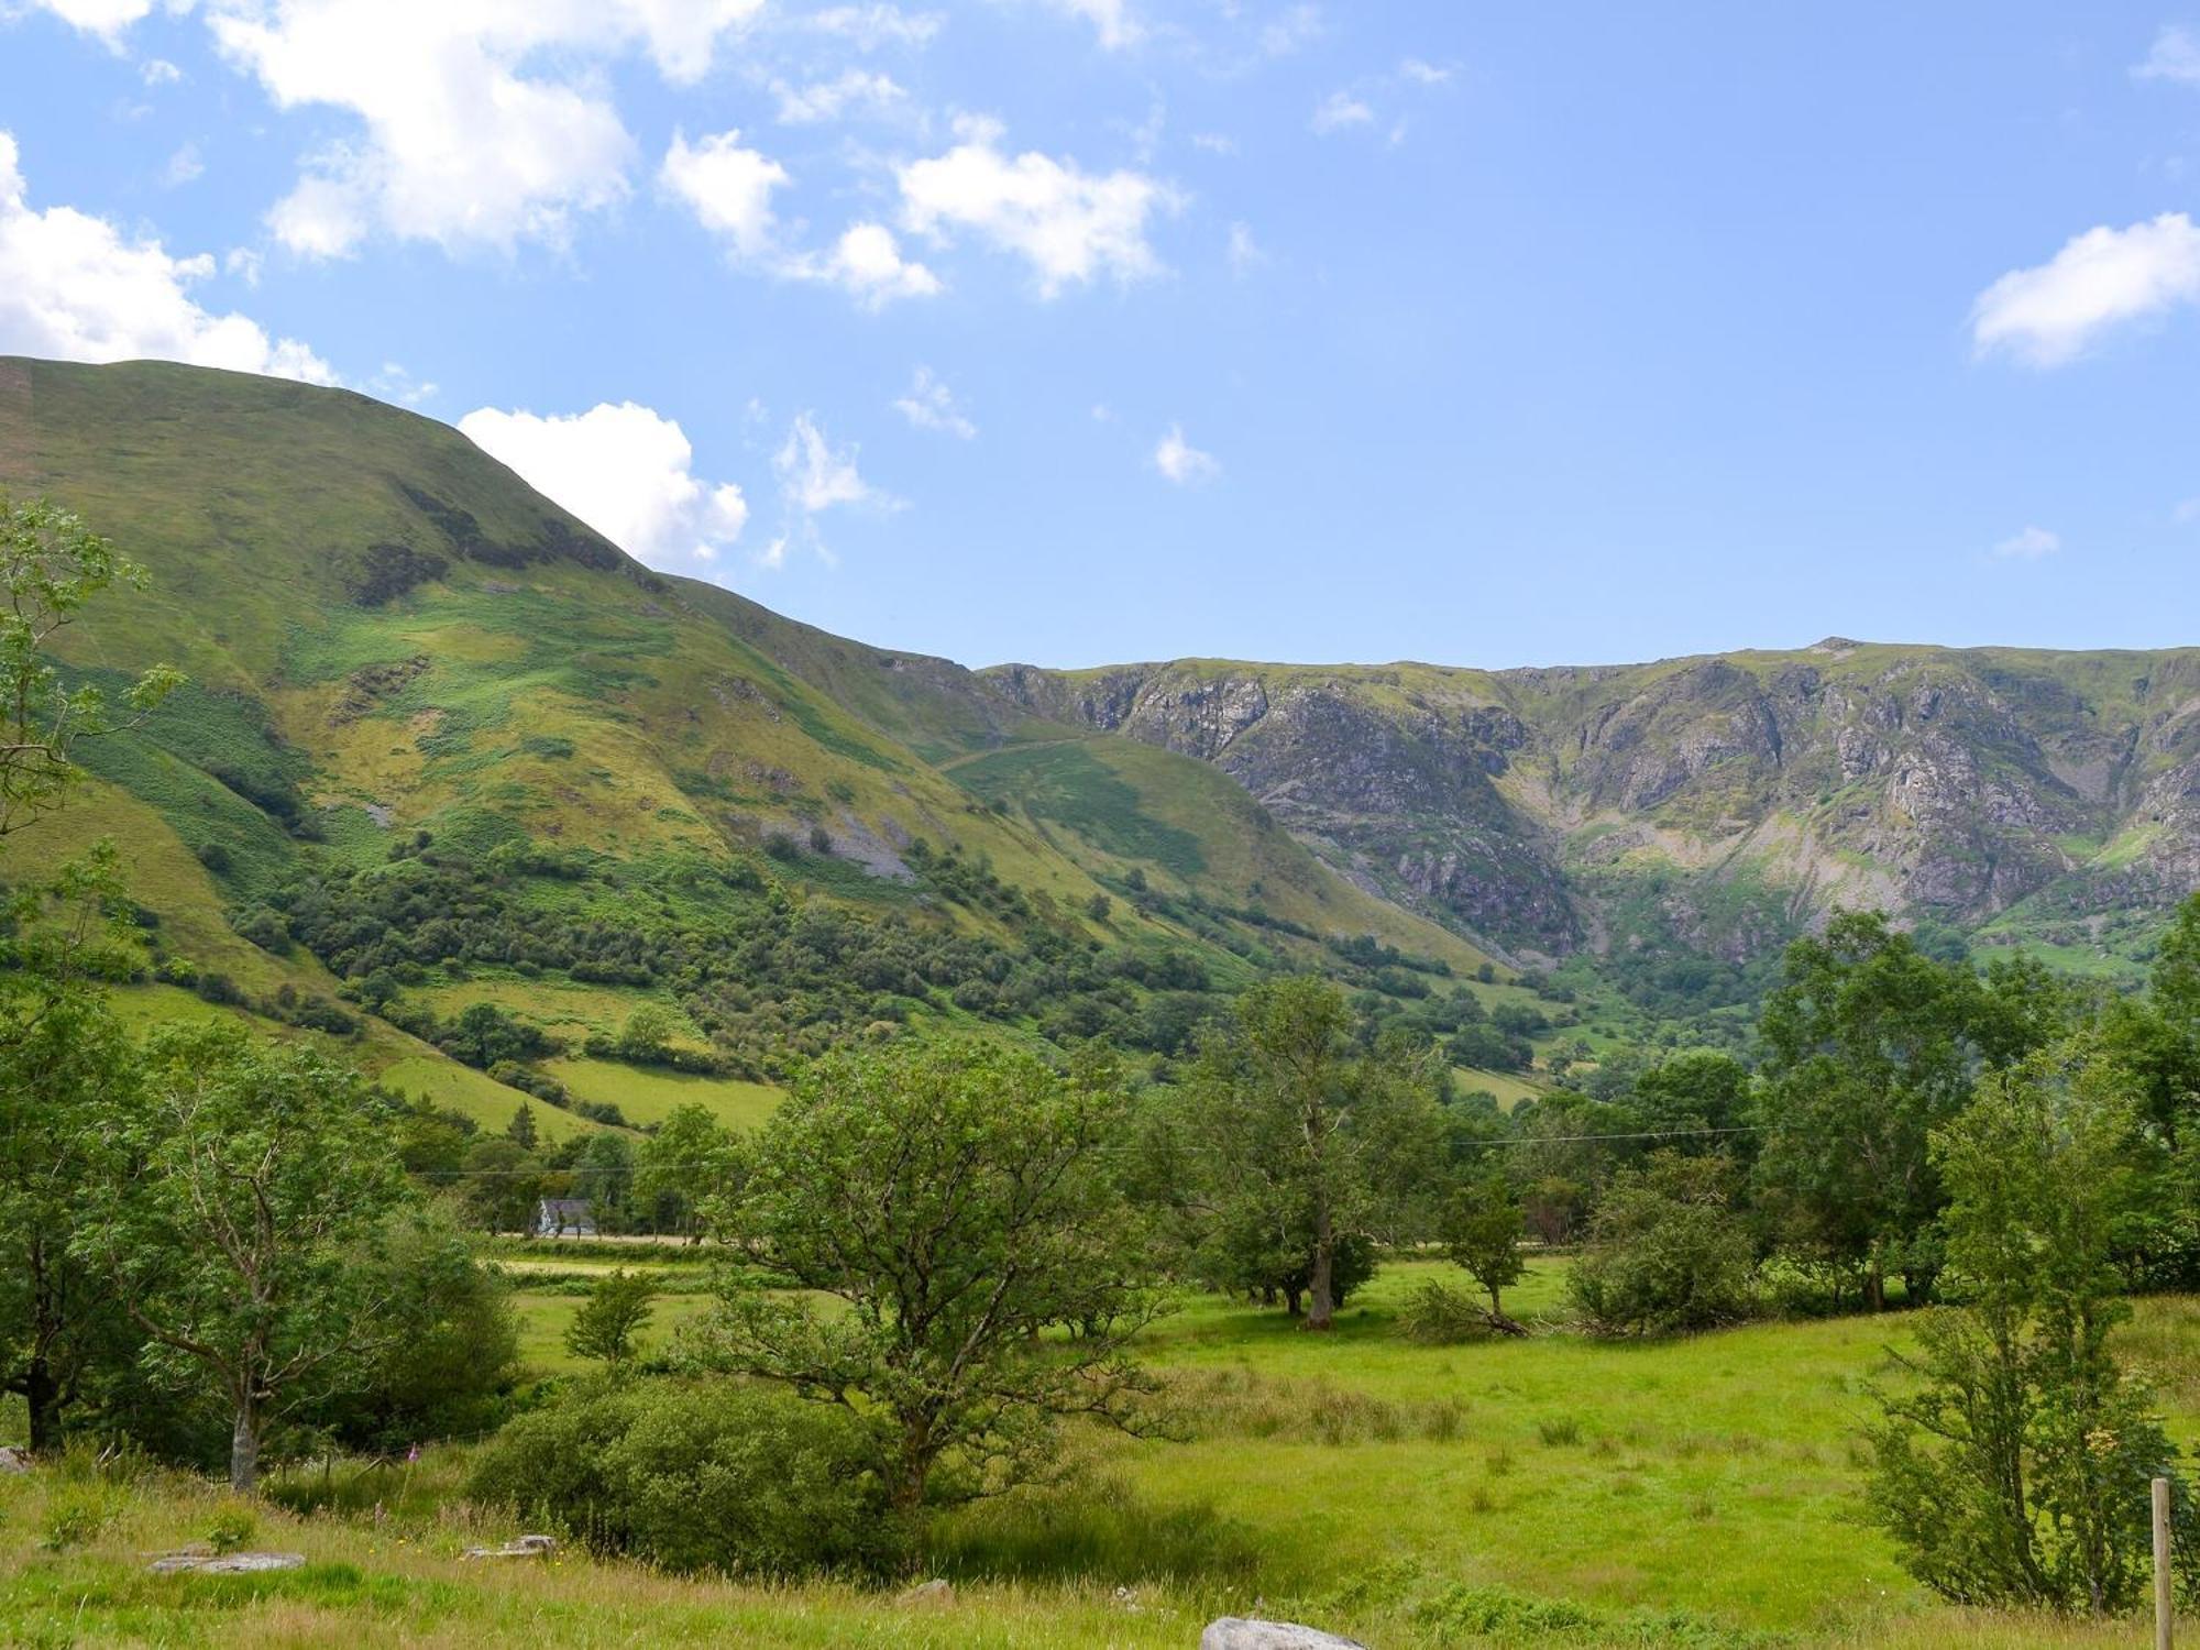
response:
[[[499,1256],[524,1355],[565,1373],[563,1327],[616,1256],[517,1247]],[[645,1338],[662,1346],[706,1307],[708,1272],[662,1250],[634,1265],[664,1276]],[[1531,1340],[1459,1346],[1399,1329],[1406,1294],[1448,1272],[1428,1261],[1388,1267],[1327,1338],[1188,1298],[1146,1338],[1179,1437],[1074,1432],[1063,1485],[946,1518],[931,1569],[957,1584],[948,1606],[686,1582],[576,1551],[462,1564],[469,1542],[515,1531],[458,1498],[466,1445],[436,1445],[409,1470],[337,1463],[328,1498],[345,1511],[262,1511],[255,1540],[310,1560],[266,1577],[145,1573],[145,1553],[205,1538],[224,1505],[209,1485],[0,1478],[0,1643],[1131,1648],[1190,1646],[1223,1610],[1371,1646],[2145,1643],[2136,1621],[1940,1606],[1859,1522],[1857,1439],[1872,1386],[1899,1377],[1901,1316],[1599,1342],[1564,1327],[1562,1265],[1536,1263],[1507,1302],[1538,1320]],[[2200,1300],[2138,1302],[2125,1342],[2191,1448]],[[90,1533],[53,1542],[64,1525]]]

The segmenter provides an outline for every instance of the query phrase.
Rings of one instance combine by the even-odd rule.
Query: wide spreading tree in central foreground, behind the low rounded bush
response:
[[[981,1045],[832,1056],[739,1151],[715,1230],[807,1294],[730,1276],[704,1344],[858,1417],[902,1516],[1041,1474],[1056,1417],[1142,1426],[1126,1344],[1157,1298],[1104,1076]]]

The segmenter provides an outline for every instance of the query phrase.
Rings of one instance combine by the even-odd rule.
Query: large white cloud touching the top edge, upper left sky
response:
[[[350,110],[363,134],[310,156],[268,222],[293,251],[378,231],[447,249],[561,244],[627,194],[634,139],[605,88],[642,51],[708,70],[763,0],[207,0],[222,55],[282,108]]]

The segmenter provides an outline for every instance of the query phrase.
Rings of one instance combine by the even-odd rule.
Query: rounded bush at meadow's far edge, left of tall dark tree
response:
[[[1756,1254],[1727,1159],[1657,1153],[1613,1181],[1566,1287],[1610,1335],[1716,1329],[1758,1311]]]

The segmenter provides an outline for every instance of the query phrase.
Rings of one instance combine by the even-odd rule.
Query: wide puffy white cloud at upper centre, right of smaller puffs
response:
[[[1089,174],[1076,161],[1001,152],[997,121],[961,119],[957,143],[898,169],[902,222],[935,240],[968,229],[1023,257],[1041,297],[1102,275],[1135,282],[1162,273],[1146,242],[1157,211],[1177,211],[1173,187],[1140,172]]]

